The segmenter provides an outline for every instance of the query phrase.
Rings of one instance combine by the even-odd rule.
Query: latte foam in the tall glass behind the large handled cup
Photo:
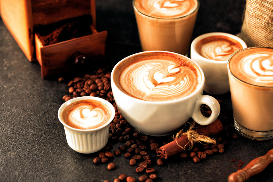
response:
[[[135,0],[141,13],[155,18],[179,18],[187,16],[197,8],[197,0]]]

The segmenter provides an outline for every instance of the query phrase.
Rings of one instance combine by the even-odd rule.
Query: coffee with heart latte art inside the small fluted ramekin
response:
[[[76,129],[94,129],[104,125],[111,117],[106,104],[96,100],[80,100],[63,111],[63,120]]]

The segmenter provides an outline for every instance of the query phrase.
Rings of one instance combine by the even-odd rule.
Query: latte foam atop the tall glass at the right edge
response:
[[[231,73],[240,80],[258,86],[273,86],[273,49],[247,48],[234,54],[229,61]]]

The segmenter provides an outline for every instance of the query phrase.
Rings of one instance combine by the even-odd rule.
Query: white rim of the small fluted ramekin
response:
[[[104,123],[104,125],[100,126],[100,127],[97,127],[97,128],[93,128],[93,129],[77,129],[77,128],[73,128],[69,125],[67,125],[63,119],[62,119],[62,116],[61,116],[61,113],[63,112],[63,110],[69,106],[70,104],[76,102],[76,101],[79,101],[79,100],[97,100],[97,101],[100,101],[104,104],[107,105],[107,107],[109,107],[110,111],[111,111],[111,117],[109,119],[109,121],[107,121],[106,123]],[[98,131],[104,127],[106,127],[107,125],[109,125],[111,123],[111,121],[114,119],[114,116],[115,116],[115,108],[113,107],[113,105],[108,102],[107,100],[104,100],[102,98],[99,98],[99,97],[93,97],[93,96],[83,96],[83,97],[77,97],[77,98],[73,98],[73,99],[70,99],[68,101],[66,101],[65,103],[63,103],[59,110],[58,110],[58,119],[59,121],[67,128],[71,129],[71,130],[74,130],[74,131],[80,131],[80,132],[90,132],[90,131]]]

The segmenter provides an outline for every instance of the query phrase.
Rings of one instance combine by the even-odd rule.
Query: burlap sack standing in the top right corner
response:
[[[273,0],[247,0],[238,36],[248,47],[273,47]]]

